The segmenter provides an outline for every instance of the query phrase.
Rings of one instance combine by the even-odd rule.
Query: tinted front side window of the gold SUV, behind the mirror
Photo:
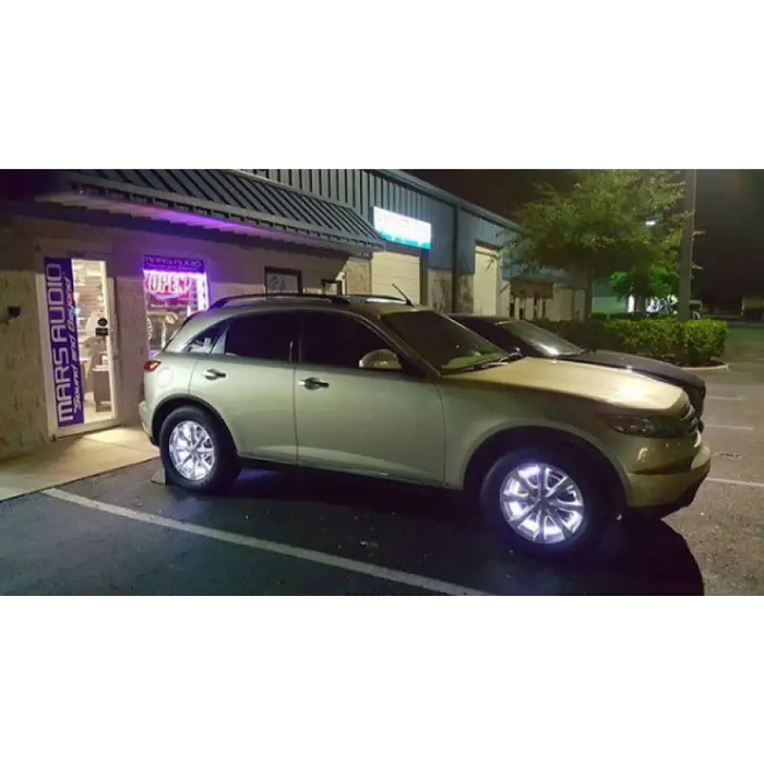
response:
[[[358,369],[361,358],[389,345],[360,321],[338,313],[306,313],[301,361],[317,366]],[[392,349],[392,348],[390,348]]]

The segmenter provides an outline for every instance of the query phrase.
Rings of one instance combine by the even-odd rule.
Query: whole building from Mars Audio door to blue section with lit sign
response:
[[[224,296],[499,310],[509,220],[394,168],[286,169],[290,182],[230,166],[0,174],[0,458],[136,423],[145,360]]]

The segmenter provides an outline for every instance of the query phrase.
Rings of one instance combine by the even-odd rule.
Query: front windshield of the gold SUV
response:
[[[442,374],[473,371],[506,360],[506,351],[434,311],[389,313],[382,322]]]

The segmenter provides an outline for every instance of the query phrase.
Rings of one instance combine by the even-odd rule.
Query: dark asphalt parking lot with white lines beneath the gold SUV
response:
[[[708,382],[714,469],[691,508],[619,523],[585,563],[511,553],[439,491],[246,473],[199,498],[148,463],[0,504],[0,597],[764,596],[764,363]]]

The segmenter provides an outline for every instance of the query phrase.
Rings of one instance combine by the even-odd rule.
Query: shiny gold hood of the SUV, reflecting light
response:
[[[524,358],[482,371],[453,374],[446,379],[560,393],[649,411],[672,408],[684,395],[679,387],[625,369],[546,358]]]

